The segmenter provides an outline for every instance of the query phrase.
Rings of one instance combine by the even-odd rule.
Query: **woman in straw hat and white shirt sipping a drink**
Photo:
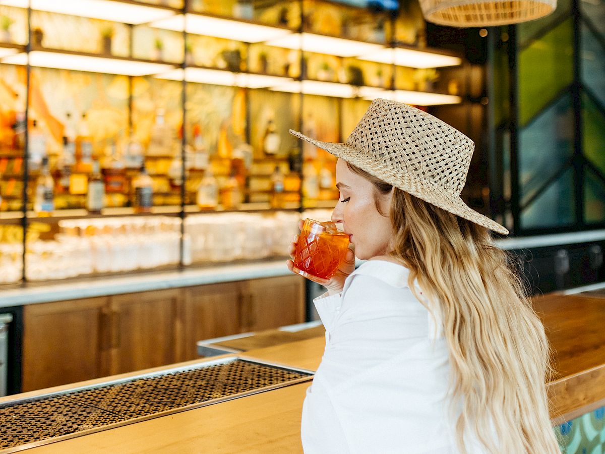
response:
[[[384,99],[345,143],[290,132],[339,158],[332,220],[367,260],[349,252],[314,301],[326,346],[305,452],[560,452],[545,332],[488,229],[508,231],[460,199],[473,142]]]

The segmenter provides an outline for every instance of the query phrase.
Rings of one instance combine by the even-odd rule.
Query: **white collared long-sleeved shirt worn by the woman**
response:
[[[306,454],[459,452],[446,340],[408,275],[404,266],[369,260],[340,294],[313,301],[326,342],[302,407]],[[469,453],[482,452],[470,445]]]

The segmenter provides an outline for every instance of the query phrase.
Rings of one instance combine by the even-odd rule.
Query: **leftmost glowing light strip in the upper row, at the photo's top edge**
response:
[[[3,0],[1,3],[20,8],[28,6],[28,0]],[[31,0],[31,8],[49,13],[133,25],[146,24],[175,14],[174,11],[154,8],[152,5],[135,5],[111,0]]]

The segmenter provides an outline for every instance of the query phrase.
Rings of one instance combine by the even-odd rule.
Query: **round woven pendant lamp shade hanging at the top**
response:
[[[549,15],[557,0],[420,0],[427,21],[451,27],[517,24]]]

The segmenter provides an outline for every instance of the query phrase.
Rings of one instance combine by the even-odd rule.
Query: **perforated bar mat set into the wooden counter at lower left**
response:
[[[193,368],[192,368],[193,367]],[[0,452],[306,381],[312,372],[240,358],[0,404]]]

